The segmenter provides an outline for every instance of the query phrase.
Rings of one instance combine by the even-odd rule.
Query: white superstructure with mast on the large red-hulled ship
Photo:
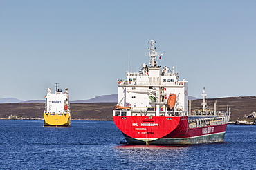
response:
[[[180,116],[188,115],[188,82],[179,80],[178,73],[172,67],[161,67],[157,63],[158,54],[153,39],[149,41],[149,65],[143,63],[139,72],[127,72],[127,80],[118,80],[119,109],[126,107],[122,114],[126,116]],[[176,95],[174,107],[168,108],[170,94]],[[127,109],[129,107],[130,109]],[[120,111],[113,111],[113,115]]]

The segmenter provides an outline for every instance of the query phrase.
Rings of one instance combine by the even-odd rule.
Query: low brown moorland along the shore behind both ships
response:
[[[231,121],[246,120],[246,116],[256,112],[256,96],[208,98],[208,109],[213,109],[214,100],[217,100],[218,111],[226,111],[227,105],[231,108]],[[202,99],[192,100],[191,109],[201,109],[201,103]],[[116,102],[71,103],[71,118],[73,120],[112,120],[115,105]],[[1,103],[0,119],[42,118],[44,107],[44,103]]]

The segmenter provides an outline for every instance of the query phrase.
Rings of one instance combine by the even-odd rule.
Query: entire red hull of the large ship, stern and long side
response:
[[[227,124],[189,128],[188,116],[113,116],[130,144],[176,145],[223,142]]]

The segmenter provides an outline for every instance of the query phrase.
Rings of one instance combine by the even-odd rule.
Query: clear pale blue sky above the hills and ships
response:
[[[148,63],[177,66],[189,96],[256,96],[256,1],[0,0],[0,98],[71,100],[117,94],[117,78]]]

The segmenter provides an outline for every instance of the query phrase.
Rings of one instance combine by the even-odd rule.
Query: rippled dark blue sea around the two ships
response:
[[[0,120],[0,169],[256,169],[255,132],[228,125],[219,144],[127,146],[111,121]]]

